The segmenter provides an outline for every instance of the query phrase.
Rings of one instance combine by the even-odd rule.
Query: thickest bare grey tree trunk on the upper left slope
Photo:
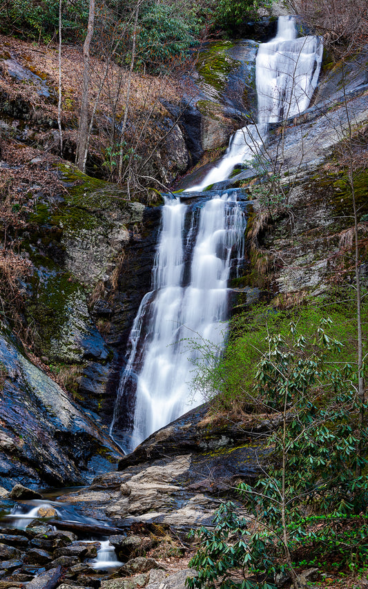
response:
[[[81,114],[79,117],[78,145],[75,163],[79,170],[86,171],[86,160],[88,153],[88,98],[90,84],[90,42],[93,37],[93,26],[95,23],[95,0],[90,0],[88,13],[88,28],[83,46],[84,70],[81,95]]]

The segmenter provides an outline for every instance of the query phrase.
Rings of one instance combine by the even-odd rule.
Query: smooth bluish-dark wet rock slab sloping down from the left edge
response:
[[[0,483],[30,486],[83,483],[90,471],[113,467],[119,450],[97,423],[0,334]],[[37,465],[35,467],[35,465]],[[15,487],[13,494],[27,492]]]

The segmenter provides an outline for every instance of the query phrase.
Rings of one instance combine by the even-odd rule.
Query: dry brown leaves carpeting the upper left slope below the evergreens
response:
[[[59,65],[57,46],[35,46],[0,35],[0,44],[3,55],[9,54],[19,61],[33,73],[46,79],[53,99],[46,99],[37,94],[37,88],[32,84],[15,83],[7,73],[6,66],[2,68],[0,76],[0,87],[10,96],[23,97],[32,106],[42,106],[45,112],[50,113],[53,118],[57,117],[57,93],[59,85]],[[63,94],[63,123],[70,124],[79,115],[79,100],[81,96],[81,80],[83,73],[83,55],[81,48],[64,46],[62,48],[62,94]],[[91,59],[90,77],[90,104],[95,104],[102,86],[99,97],[98,113],[110,115],[111,108],[115,108],[119,116],[124,113],[126,103],[126,88],[128,71],[115,64],[108,64],[100,59]],[[162,108],[159,106],[159,96],[165,95],[167,99],[177,102],[178,88],[175,81],[167,77],[154,77],[133,73],[130,88],[129,109],[131,113],[135,110],[150,110],[151,108]]]

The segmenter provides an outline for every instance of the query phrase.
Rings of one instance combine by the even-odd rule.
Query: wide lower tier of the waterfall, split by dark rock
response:
[[[135,416],[133,432],[123,442],[126,450],[202,402],[191,396],[188,382],[197,356],[196,342],[209,340],[221,347],[226,334],[226,285],[231,257],[243,256],[244,214],[236,193],[194,207],[189,234],[196,238],[190,251],[193,244],[191,240],[187,244],[183,232],[187,212],[188,206],[178,200],[168,200],[164,206],[153,292],[142,301],[130,334],[130,358],[110,429],[114,434],[119,398],[128,380],[134,380]],[[145,320],[149,332],[142,336]]]

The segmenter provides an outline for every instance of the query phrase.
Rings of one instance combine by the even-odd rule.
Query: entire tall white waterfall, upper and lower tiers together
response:
[[[244,256],[246,202],[240,190],[205,191],[229,178],[236,164],[260,153],[270,123],[308,108],[318,82],[322,41],[296,38],[294,17],[279,17],[278,32],[260,44],[255,62],[258,122],[239,129],[219,164],[186,189],[193,202],[166,197],[152,271],[130,331],[130,354],[119,383],[110,435],[130,452],[146,437],[204,401],[191,389],[200,345],[220,353],[226,340],[227,283]],[[134,398],[134,402],[132,399]],[[133,407],[125,416],[126,407]],[[126,423],[130,421],[130,423]]]

